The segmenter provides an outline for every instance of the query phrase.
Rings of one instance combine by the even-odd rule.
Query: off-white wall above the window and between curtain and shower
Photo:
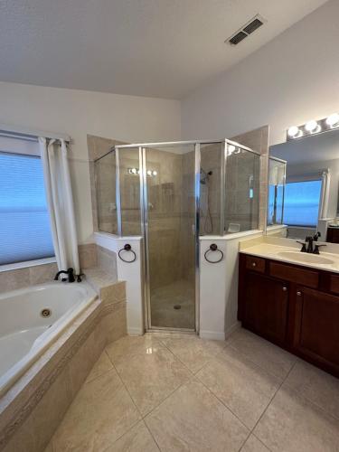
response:
[[[80,243],[91,241],[87,134],[126,142],[180,139],[180,102],[0,82],[0,123],[71,136],[71,178]]]

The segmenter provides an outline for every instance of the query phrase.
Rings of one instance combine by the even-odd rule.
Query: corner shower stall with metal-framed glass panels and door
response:
[[[260,155],[227,139],[114,146],[95,162],[99,231],[141,236],[146,330],[199,328],[199,237],[258,229]]]

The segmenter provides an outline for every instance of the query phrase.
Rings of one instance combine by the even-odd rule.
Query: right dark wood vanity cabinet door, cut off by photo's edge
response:
[[[297,288],[294,347],[339,372],[339,297]]]

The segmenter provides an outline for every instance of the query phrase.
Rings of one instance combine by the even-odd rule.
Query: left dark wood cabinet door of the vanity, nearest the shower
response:
[[[252,272],[247,272],[244,284],[244,326],[283,344],[287,334],[287,284]]]

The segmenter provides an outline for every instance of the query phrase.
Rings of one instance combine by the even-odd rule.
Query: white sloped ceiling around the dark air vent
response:
[[[181,99],[323,4],[0,0],[0,80]],[[258,13],[267,24],[224,44]]]

